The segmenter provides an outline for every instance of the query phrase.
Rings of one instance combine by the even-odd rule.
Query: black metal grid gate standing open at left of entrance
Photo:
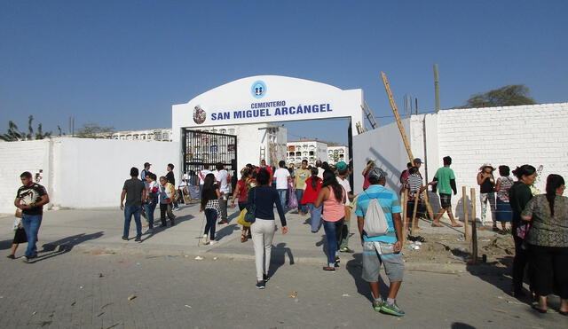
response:
[[[217,163],[223,164],[229,175],[237,177],[236,136],[190,129],[183,129],[182,134],[184,172],[189,176],[190,184],[198,185],[199,172],[205,166],[213,171]]]

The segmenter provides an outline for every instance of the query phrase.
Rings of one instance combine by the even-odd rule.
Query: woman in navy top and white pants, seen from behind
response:
[[[275,189],[270,187],[270,173],[261,168],[256,175],[257,186],[248,192],[247,209],[250,205],[256,206],[255,223],[250,225],[253,246],[255,247],[256,262],[256,287],[264,289],[266,281],[269,280],[268,269],[270,267],[270,253],[272,249],[272,239],[276,231],[274,223],[274,206],[278,209],[280,223],[282,223],[282,234],[288,233],[284,209],[280,203],[280,197]]]

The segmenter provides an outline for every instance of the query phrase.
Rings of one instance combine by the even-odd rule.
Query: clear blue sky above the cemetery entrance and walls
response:
[[[0,1],[0,131],[29,114],[56,132],[83,123],[170,127],[171,105],[241,77],[288,75],[362,88],[392,121],[405,94],[434,107],[524,83],[568,100],[566,1]],[[345,142],[346,121],[288,123]]]

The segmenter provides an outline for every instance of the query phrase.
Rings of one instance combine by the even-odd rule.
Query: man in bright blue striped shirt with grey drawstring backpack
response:
[[[362,278],[369,283],[373,294],[373,308],[393,316],[402,317],[405,312],[398,308],[396,298],[402,284],[405,269],[400,251],[402,249],[402,221],[400,201],[396,192],[384,184],[387,174],[375,167],[369,170],[371,184],[359,194],[357,201],[357,224],[363,244]],[[386,301],[379,291],[381,264],[390,281]]]

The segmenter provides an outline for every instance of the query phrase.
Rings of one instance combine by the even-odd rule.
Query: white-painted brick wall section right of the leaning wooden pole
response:
[[[511,170],[525,163],[542,166],[536,186],[544,192],[549,174],[568,179],[568,103],[441,111],[438,154],[452,157],[459,194],[462,185],[475,187],[478,198],[476,176],[485,162]]]

